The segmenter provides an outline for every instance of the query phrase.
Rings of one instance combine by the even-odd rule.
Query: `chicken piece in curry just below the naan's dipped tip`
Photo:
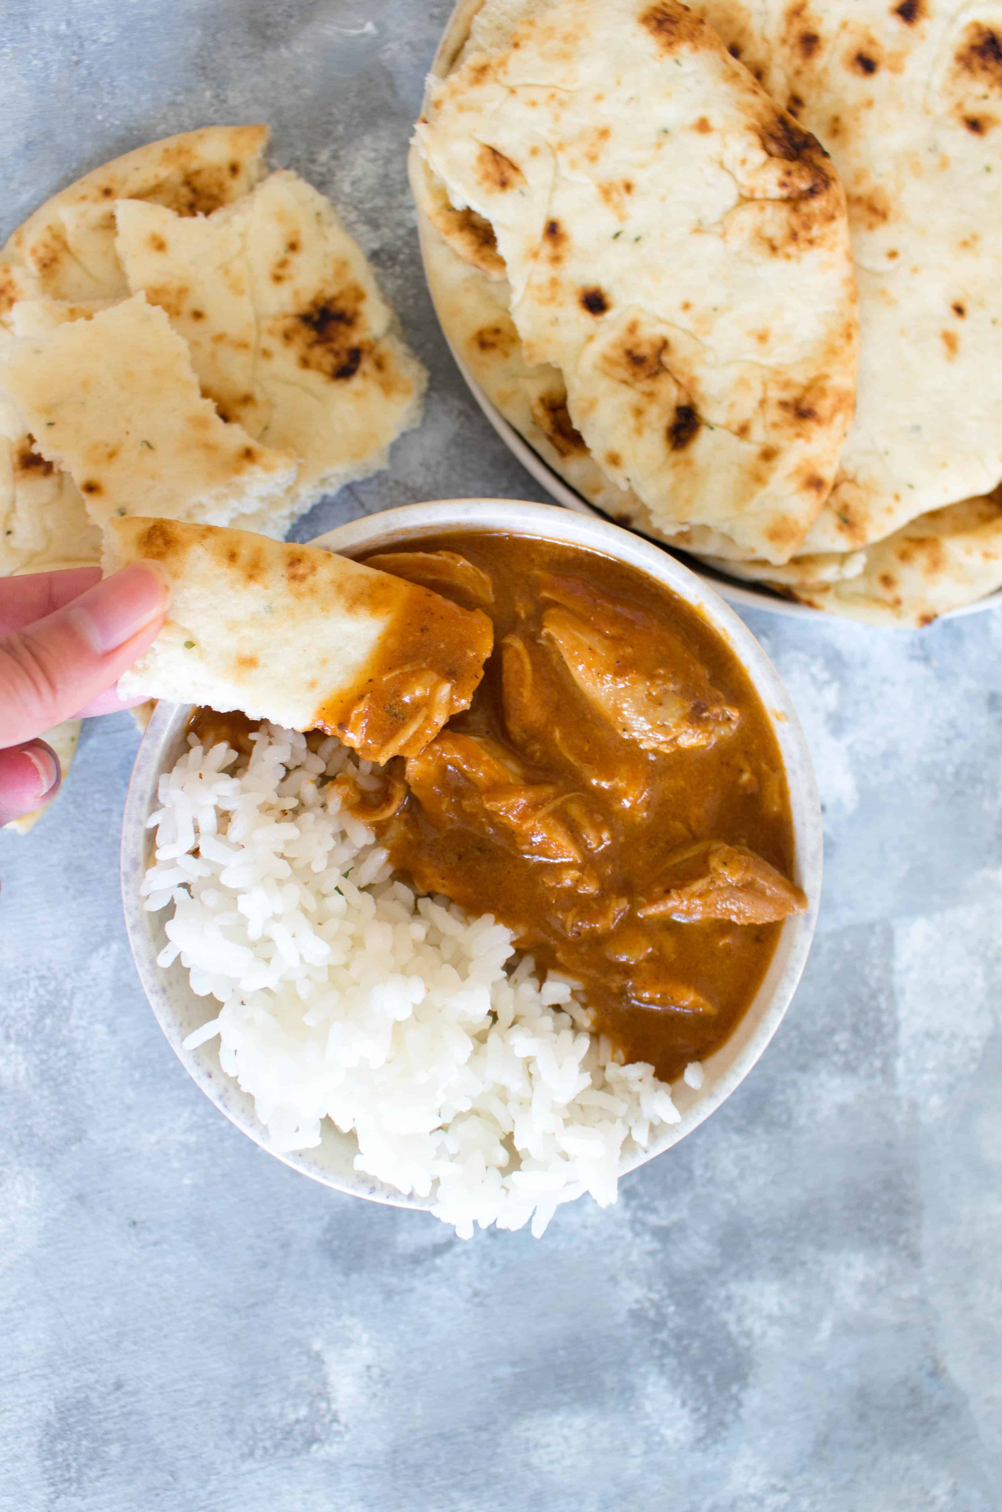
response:
[[[446,732],[407,764],[407,782],[432,821],[494,833],[523,856],[580,866],[582,847],[558,809],[555,783],[530,783],[521,764],[496,741]]]

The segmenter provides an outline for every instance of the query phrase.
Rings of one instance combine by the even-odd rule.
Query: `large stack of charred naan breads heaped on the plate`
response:
[[[1002,5],[469,0],[446,334],[585,499],[869,623],[1002,585]]]

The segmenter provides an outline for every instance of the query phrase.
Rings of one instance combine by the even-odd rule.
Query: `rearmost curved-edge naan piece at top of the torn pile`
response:
[[[17,299],[124,299],[115,201],[207,215],[264,172],[266,125],[207,125],[138,147],[47,200],[0,251],[0,314]]]

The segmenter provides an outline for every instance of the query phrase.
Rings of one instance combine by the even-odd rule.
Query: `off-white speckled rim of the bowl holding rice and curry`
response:
[[[809,910],[786,919],[772,963],[751,1007],[727,1043],[704,1061],[703,1089],[697,1092],[683,1081],[673,1084],[673,1096],[682,1114],[680,1122],[663,1128],[647,1151],[633,1149],[626,1155],[620,1166],[620,1175],[626,1175],[677,1145],[734,1092],[765,1051],[789,1007],[810,950],[821,895],[822,824],[810,751],[793,705],[772,662],[710,584],[659,546],[606,520],[571,514],[550,503],[450,499],[411,503],[366,516],[319,535],[313,544],[345,556],[358,556],[404,540],[455,529],[505,531],[589,547],[636,567],[671,588],[697,608],[730,644],[763,702],[783,756],[795,835],[793,875],[807,894]],[[293,1170],[339,1191],[393,1207],[429,1208],[434,1194],[404,1196],[384,1182],[357,1172],[355,1137],[342,1134],[328,1119],[323,1120],[322,1142],[314,1149],[299,1152],[275,1149],[268,1131],[257,1120],[252,1099],[221,1070],[218,1042],[210,1040],[198,1049],[184,1049],[184,1037],[207,1018],[215,1016],[216,1005],[215,1001],[207,1005],[206,999],[195,996],[180,962],[174,962],[166,971],[157,966],[156,957],[166,943],[165,915],[147,912],[139,897],[139,883],[153,854],[153,832],[147,829],[147,820],[156,807],[157,783],[160,774],[174,765],[184,748],[184,727],[189,717],[190,705],[163,702],[157,705],[136,756],[122,818],[121,885],[125,928],[139,980],[157,1022],[175,1055],[206,1096],[261,1149],[277,1155]]]

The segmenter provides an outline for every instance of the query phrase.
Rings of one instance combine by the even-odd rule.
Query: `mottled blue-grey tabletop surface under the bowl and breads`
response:
[[[313,511],[540,497],[423,290],[404,148],[446,5],[0,6],[3,225],[139,142],[269,119],[432,370]],[[3,1512],[987,1512],[1002,1506],[1002,615],[751,617],[825,803],[824,912],[762,1064],[605,1213],[455,1240],[236,1132],[139,990],[136,736],[0,835]]]

